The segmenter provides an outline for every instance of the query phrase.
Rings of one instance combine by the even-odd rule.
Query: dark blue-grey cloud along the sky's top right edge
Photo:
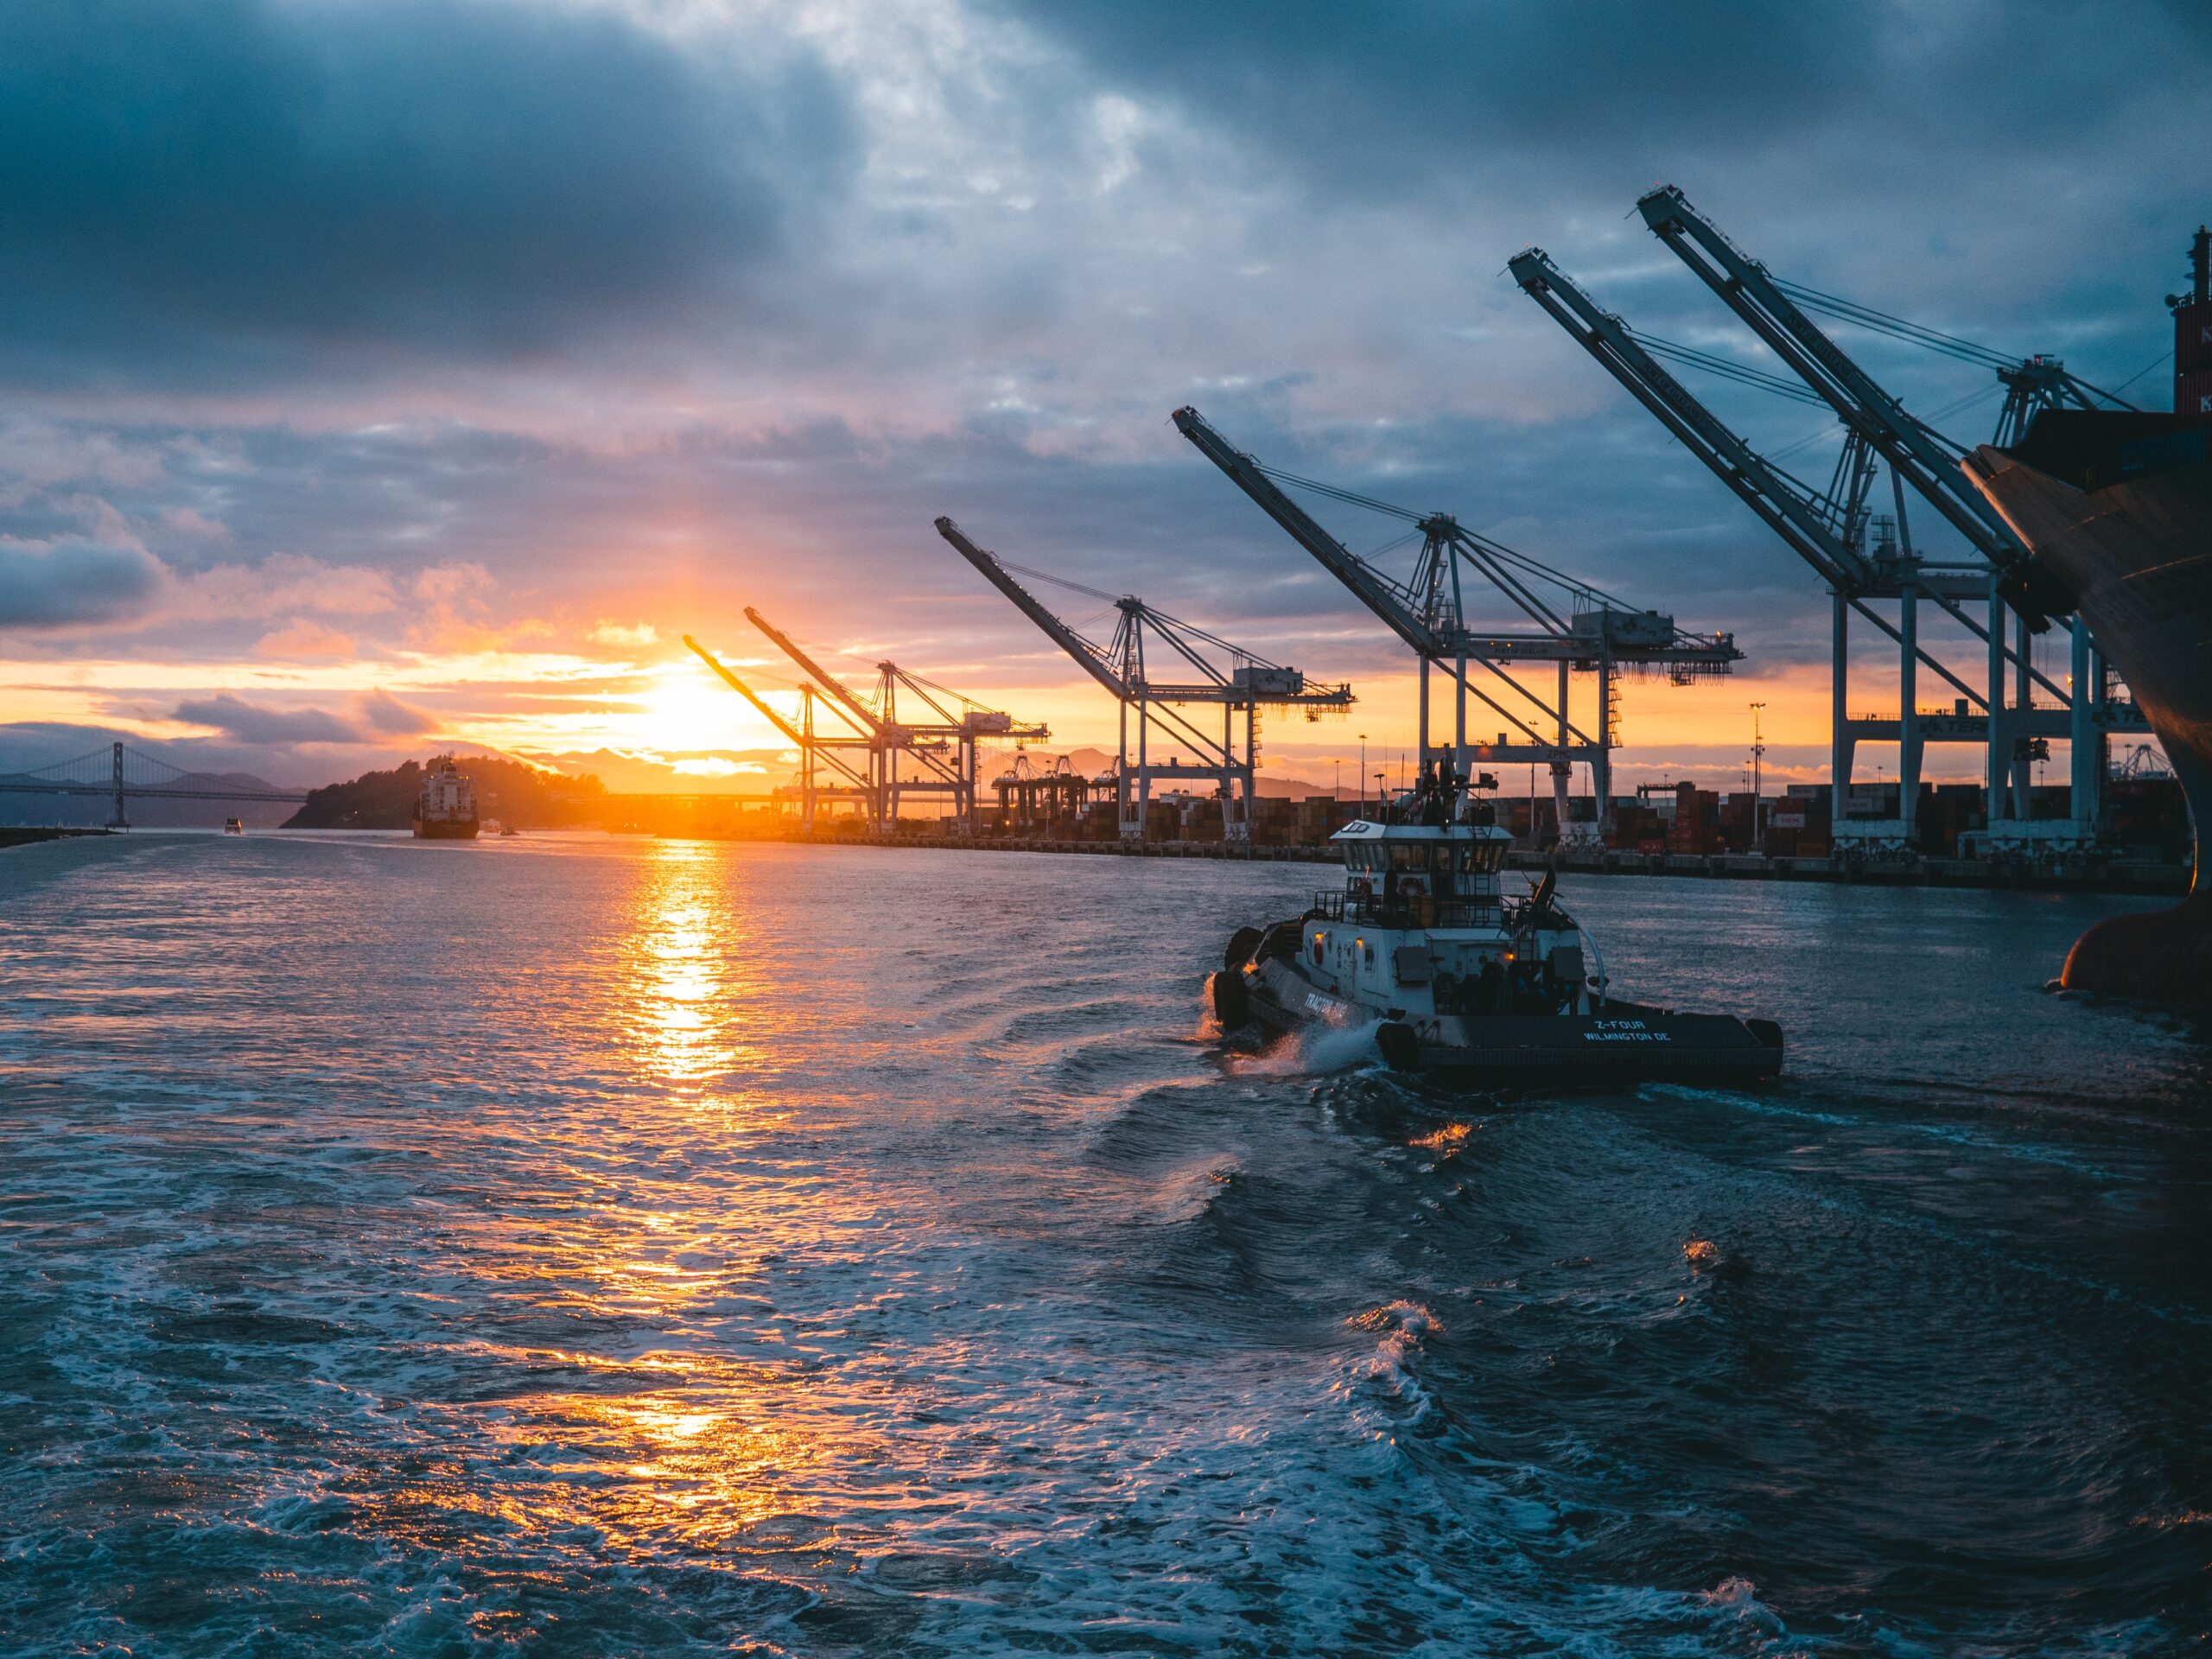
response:
[[[1805,148],[1843,131],[1887,168],[1896,135],[2062,150],[2212,55],[2201,4],[1960,0],[998,0],[1108,82],[1270,146],[1334,190],[1416,201],[1635,157]],[[2152,53],[2152,55],[2146,55]],[[1885,142],[1885,128],[1889,139]],[[1913,159],[1913,157],[1905,157]],[[1644,188],[1650,177],[1624,184]],[[1847,190],[1847,181],[1834,175]],[[1588,204],[1562,201],[1564,210]]]

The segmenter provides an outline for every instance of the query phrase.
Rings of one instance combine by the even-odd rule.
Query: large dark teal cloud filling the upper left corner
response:
[[[0,361],[507,356],[728,294],[849,157],[803,53],[500,0],[0,7]]]

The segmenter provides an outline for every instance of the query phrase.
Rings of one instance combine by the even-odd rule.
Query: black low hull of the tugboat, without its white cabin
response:
[[[1416,1015],[1391,1020],[1332,995],[1279,960],[1223,969],[1214,980],[1223,1029],[1374,1029],[1394,1071],[1462,1086],[1535,1082],[1750,1082],[1783,1066],[1781,1026],[1721,1013],[1610,1002],[1604,1013]],[[1241,1018],[1232,1020],[1232,1013]]]

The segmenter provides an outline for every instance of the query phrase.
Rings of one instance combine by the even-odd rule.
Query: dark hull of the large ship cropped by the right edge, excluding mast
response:
[[[1984,447],[1966,458],[1966,476],[2073,593],[2097,648],[2128,681],[2188,801],[2197,865],[2183,905],[2099,922],[2075,942],[2059,982],[2212,1004],[2212,891],[2203,880],[2212,814],[2212,462],[2126,476],[2126,451],[2115,445],[2104,453],[2097,429],[2084,416],[2073,422],[2066,436],[2077,440],[2079,467],[2064,465],[2057,447],[2039,456],[2051,471]],[[2033,442],[2031,434],[2024,449]],[[2075,471],[2075,480],[2062,471]]]

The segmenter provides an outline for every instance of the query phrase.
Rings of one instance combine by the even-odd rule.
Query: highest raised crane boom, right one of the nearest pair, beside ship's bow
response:
[[[1741,316],[1765,345],[1787,363],[1805,385],[1818,392],[1860,434],[1896,473],[1911,484],[1944,520],[1966,538],[2004,577],[2004,595],[2031,626],[2048,628],[2051,615],[2073,608],[2073,602],[2013,535],[1980,491],[1975,491],[1958,456],[1918,418],[1905,411],[1882,385],[1838,347],[1783,292],[1781,283],[1736,248],[1672,184],[1646,192],[1637,201],[1644,223]]]

